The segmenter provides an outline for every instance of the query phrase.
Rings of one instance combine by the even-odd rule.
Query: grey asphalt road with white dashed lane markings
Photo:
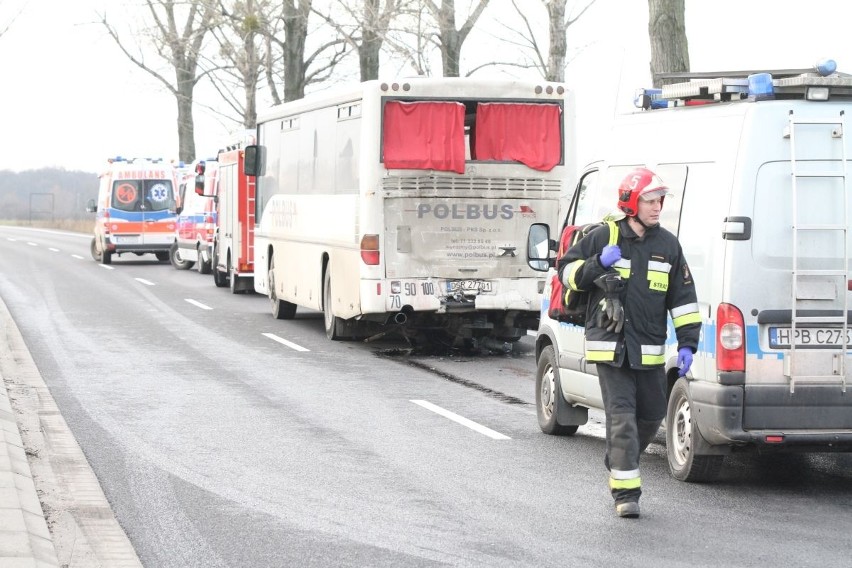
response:
[[[145,566],[850,566],[848,455],[643,458],[617,519],[601,417],[540,432],[511,352],[331,342],[86,235],[0,227],[0,296]]]

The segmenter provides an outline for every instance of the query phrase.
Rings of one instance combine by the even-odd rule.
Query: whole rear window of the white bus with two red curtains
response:
[[[562,161],[562,109],[553,103],[387,101],[388,169],[464,173],[466,157],[550,171]]]

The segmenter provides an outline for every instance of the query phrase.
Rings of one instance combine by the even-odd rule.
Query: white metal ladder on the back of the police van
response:
[[[814,128],[824,125],[829,128],[829,136],[834,144],[840,145],[840,167],[832,171],[811,171],[801,169],[802,164],[796,161],[796,130],[803,126]],[[792,169],[792,193],[793,193],[793,273],[792,273],[792,313],[790,320],[790,350],[784,359],[784,373],[790,379],[790,393],[795,392],[797,382],[801,383],[838,383],[842,392],[846,392],[846,352],[849,349],[849,242],[848,242],[848,215],[849,215],[849,183],[847,177],[846,143],[844,141],[845,116],[840,111],[837,118],[829,119],[799,119],[790,111],[789,125],[785,137],[790,138],[790,166]],[[801,132],[801,130],[800,130]],[[829,203],[822,204],[826,209],[839,211],[839,220],[832,223],[803,223],[799,218],[799,187],[800,180],[804,178],[828,178],[833,180],[833,186],[842,190],[842,196]],[[839,183],[838,183],[839,182]],[[828,201],[828,200],[827,200]],[[839,202],[838,202],[839,201]],[[835,267],[809,269],[803,268],[803,261],[808,258],[807,254],[800,252],[799,237],[801,233],[808,235],[833,236],[842,239],[840,247],[840,258]],[[800,296],[802,277],[825,276],[835,281],[842,281],[842,286],[836,288],[839,299],[828,313],[815,310],[805,310],[804,299]],[[808,325],[828,325],[832,329],[839,330],[840,337],[836,345],[818,349],[807,349],[796,347],[797,329],[804,330]]]

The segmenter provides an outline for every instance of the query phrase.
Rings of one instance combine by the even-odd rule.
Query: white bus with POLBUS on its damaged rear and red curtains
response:
[[[526,236],[573,187],[573,132],[553,83],[368,81],[276,106],[246,149],[255,291],[278,319],[322,311],[330,339],[515,341],[538,325]]]

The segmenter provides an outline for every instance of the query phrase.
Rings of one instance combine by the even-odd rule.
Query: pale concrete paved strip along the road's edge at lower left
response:
[[[0,568],[142,566],[0,298]]]

